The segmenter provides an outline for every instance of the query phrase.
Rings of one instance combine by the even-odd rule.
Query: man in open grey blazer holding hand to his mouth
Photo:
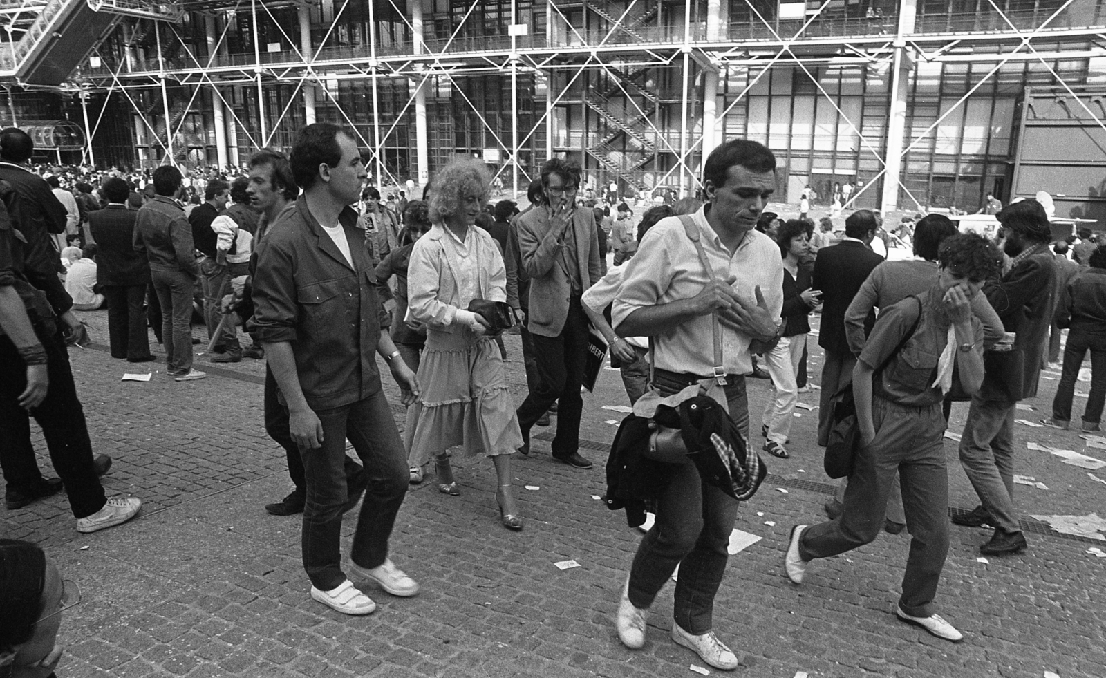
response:
[[[540,375],[519,407],[519,427],[530,453],[530,428],[557,401],[553,458],[577,468],[592,462],[580,455],[580,418],[588,322],[580,298],[599,274],[599,241],[592,210],[576,204],[580,165],[554,158],[542,167],[547,205],[519,217],[519,253],[530,277],[526,328],[533,335]]]

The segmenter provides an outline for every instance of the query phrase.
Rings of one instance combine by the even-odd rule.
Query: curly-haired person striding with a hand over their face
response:
[[[953,643],[963,636],[933,612],[949,550],[941,400],[952,387],[953,367],[964,393],[983,382],[983,326],[971,300],[997,257],[980,236],[952,236],[941,243],[940,272],[929,290],[879,314],[853,371],[859,446],[844,510],[836,520],[792,528],[784,555],[787,578],[802,584],[814,559],[875,540],[901,470],[911,539],[895,616]]]

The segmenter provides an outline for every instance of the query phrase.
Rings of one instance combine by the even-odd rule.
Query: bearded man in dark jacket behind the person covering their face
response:
[[[1041,361],[1056,305],[1058,271],[1048,251],[1048,216],[1036,200],[1021,200],[999,212],[1003,250],[1013,257],[1010,271],[992,278],[983,293],[1006,332],[1018,334],[1008,352],[983,356],[987,374],[972,396],[960,440],[964,467],[981,505],[952,519],[958,525],[994,528],[980,546],[987,555],[1018,553],[1026,547],[1014,511],[1014,417],[1018,401],[1036,396]]]

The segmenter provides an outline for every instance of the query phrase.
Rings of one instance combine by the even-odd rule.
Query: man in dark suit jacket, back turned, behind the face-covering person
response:
[[[813,289],[822,290],[818,346],[825,350],[818,397],[818,445],[823,447],[830,436],[830,398],[853,379],[853,367],[856,365],[856,356],[845,336],[845,311],[872,269],[884,260],[869,249],[878,228],[879,222],[870,210],[857,210],[845,219],[845,238],[837,244],[820,249],[814,259],[811,284]],[[875,322],[875,314],[869,312],[864,321],[865,335]]]

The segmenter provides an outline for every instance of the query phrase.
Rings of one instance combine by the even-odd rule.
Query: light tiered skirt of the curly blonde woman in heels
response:
[[[428,328],[418,367],[420,394],[407,410],[404,442],[410,466],[462,446],[468,455],[510,455],[522,431],[499,346],[468,328]]]

